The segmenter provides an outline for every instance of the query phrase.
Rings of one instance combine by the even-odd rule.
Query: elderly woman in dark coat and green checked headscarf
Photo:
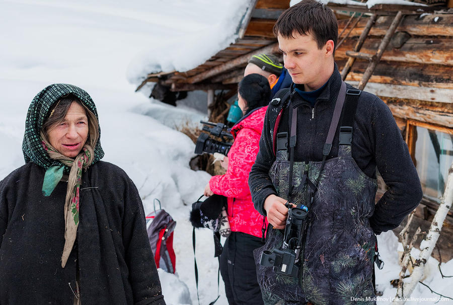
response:
[[[84,90],[33,99],[26,164],[0,182],[0,304],[165,304],[140,196],[99,137]]]

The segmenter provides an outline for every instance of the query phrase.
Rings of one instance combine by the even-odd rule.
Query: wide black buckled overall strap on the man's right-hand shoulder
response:
[[[352,144],[352,128],[354,127],[355,110],[357,101],[362,92],[352,88],[346,91],[346,101],[343,109],[343,120],[340,125],[340,145]]]

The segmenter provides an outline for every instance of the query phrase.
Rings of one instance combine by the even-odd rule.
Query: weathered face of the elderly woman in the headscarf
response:
[[[50,127],[47,137],[61,155],[77,157],[88,138],[88,117],[85,109],[72,102],[63,122]]]

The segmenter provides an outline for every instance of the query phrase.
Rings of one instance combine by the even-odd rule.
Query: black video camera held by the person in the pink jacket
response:
[[[226,130],[226,126],[222,123],[205,121],[200,121],[200,123],[204,125],[203,131],[207,131],[214,137],[220,138],[221,141],[217,141],[209,137],[208,133],[202,132],[198,136],[197,143],[195,144],[195,154],[202,155],[204,152],[207,154],[214,154],[214,152],[218,152],[219,154],[226,156],[233,145],[231,142],[233,135],[229,132],[223,131],[223,129]]]

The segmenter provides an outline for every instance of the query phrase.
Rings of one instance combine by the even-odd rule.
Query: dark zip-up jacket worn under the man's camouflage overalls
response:
[[[334,72],[316,100],[315,107],[293,94],[290,106],[282,113],[277,132],[288,129],[289,108],[298,107],[297,142],[294,161],[322,161],[323,147],[340,90],[341,75],[335,64]],[[351,86],[348,85],[347,89]],[[303,87],[300,88],[303,90]],[[267,109],[260,150],[249,176],[249,186],[255,208],[266,215],[264,200],[277,192],[269,178],[275,161],[272,147],[275,119],[283,103],[271,103]],[[341,120],[340,120],[341,122]],[[327,159],[338,155],[339,130]],[[387,105],[373,94],[362,92],[354,117],[352,157],[368,177],[376,178],[376,167],[389,189],[375,205],[370,225],[375,234],[397,227],[420,202],[422,190],[417,171],[401,131]]]

